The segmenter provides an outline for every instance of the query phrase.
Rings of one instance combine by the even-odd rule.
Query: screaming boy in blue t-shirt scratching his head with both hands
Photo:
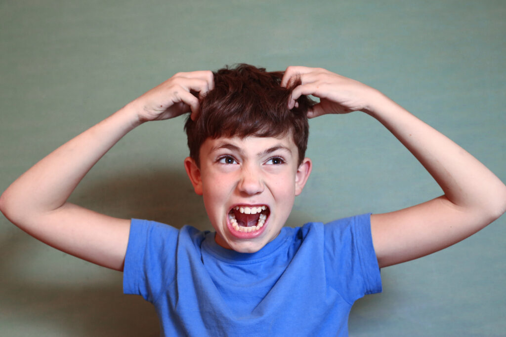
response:
[[[66,202],[123,135],[189,111],[185,169],[216,233]],[[311,173],[306,116],[352,111],[385,125],[444,195],[396,212],[283,228]],[[360,82],[319,68],[267,73],[240,65],[179,73],[149,90],[29,169],[4,192],[0,209],[55,248],[123,270],[125,293],[155,305],[162,334],[347,335],[353,302],[381,291],[379,268],[480,230],[505,211],[506,186]]]

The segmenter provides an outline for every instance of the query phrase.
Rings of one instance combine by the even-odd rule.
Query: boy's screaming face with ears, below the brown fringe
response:
[[[200,168],[191,158],[185,168],[203,196],[216,242],[253,253],[279,234],[311,173],[311,161],[305,158],[298,165],[291,135],[221,137],[204,141]]]

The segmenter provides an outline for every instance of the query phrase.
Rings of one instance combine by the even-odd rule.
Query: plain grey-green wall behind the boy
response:
[[[506,181],[503,1],[0,2],[0,190],[82,130],[178,71],[324,67],[374,86]],[[71,201],[118,217],[209,229],[183,169],[183,118],[132,131]],[[311,120],[313,175],[288,225],[386,212],[441,194],[365,114]],[[382,270],[354,336],[504,335],[506,218]],[[121,276],[47,247],[0,216],[0,335],[158,334]]]

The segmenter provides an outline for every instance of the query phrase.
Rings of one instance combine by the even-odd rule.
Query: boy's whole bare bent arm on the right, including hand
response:
[[[395,212],[373,214],[371,231],[380,267],[413,260],[476,233],[506,211],[506,186],[453,141],[381,92],[321,68],[288,67],[281,85],[299,76],[288,106],[301,94],[320,103],[308,117],[363,111],[382,123],[416,157],[444,195]]]

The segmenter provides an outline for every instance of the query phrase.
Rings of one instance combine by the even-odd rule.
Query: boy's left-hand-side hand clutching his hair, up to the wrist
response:
[[[174,118],[190,112],[195,120],[199,112],[198,97],[202,97],[214,87],[211,71],[177,73],[157,85],[132,102],[137,106],[140,121],[153,121]]]

